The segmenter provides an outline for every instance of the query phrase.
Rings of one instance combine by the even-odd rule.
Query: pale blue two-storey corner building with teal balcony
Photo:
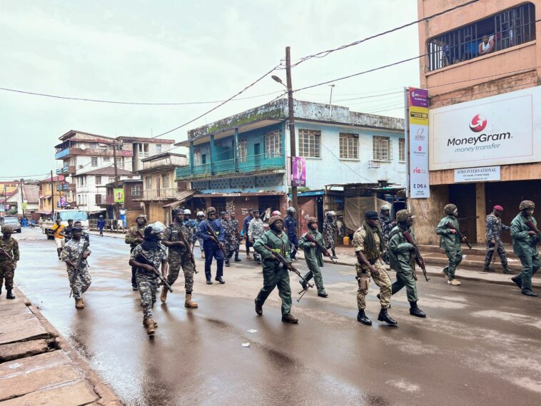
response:
[[[305,190],[336,183],[405,184],[404,121],[342,106],[294,101],[297,156],[305,158]],[[288,102],[273,101],[188,131],[176,143],[190,165],[176,170],[198,199],[218,212],[288,207]]]

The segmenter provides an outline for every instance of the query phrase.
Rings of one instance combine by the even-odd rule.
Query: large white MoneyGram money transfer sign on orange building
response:
[[[541,161],[541,86],[430,111],[429,169]]]

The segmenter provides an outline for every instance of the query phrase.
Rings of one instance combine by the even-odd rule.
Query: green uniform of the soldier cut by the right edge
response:
[[[530,218],[537,227],[537,221],[535,218]],[[517,275],[517,278],[522,279],[522,290],[532,290],[532,275],[534,275],[539,268],[541,268],[541,262],[539,260],[539,253],[537,252],[537,243],[539,238],[537,235],[529,235],[530,228],[526,225],[527,219],[518,213],[511,222],[511,238],[513,240],[513,252],[520,258],[522,264],[522,272]]]

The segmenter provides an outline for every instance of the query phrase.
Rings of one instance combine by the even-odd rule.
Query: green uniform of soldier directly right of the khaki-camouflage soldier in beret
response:
[[[400,225],[397,225],[389,234],[389,263],[390,268],[396,271],[396,280],[392,285],[393,295],[404,286],[408,302],[417,302],[417,283],[413,269],[413,245],[408,243],[404,237],[404,232],[409,231],[413,242],[415,243],[415,234],[411,228],[404,230]]]

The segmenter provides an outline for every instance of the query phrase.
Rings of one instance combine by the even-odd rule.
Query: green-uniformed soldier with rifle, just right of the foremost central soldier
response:
[[[320,270],[320,267],[323,268],[323,254],[315,243],[312,243],[310,240],[308,240],[308,238],[306,238],[306,235],[308,234],[310,234],[314,240],[318,241],[322,247],[325,246],[323,235],[318,230],[318,219],[315,217],[308,218],[308,232],[304,233],[300,238],[298,246],[300,249],[304,250],[304,259],[309,269],[308,273],[304,275],[305,280],[314,278],[315,286],[318,287],[318,296],[320,298],[326,298],[328,297],[328,294],[325,292],[325,286],[323,286],[323,276],[321,275]],[[299,283],[302,285],[303,289],[308,288],[308,284],[305,283],[304,280],[299,280]]]

